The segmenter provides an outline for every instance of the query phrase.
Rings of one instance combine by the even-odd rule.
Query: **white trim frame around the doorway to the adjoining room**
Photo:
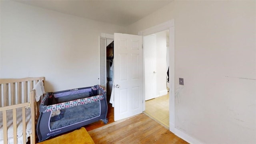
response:
[[[169,30],[169,48],[170,48],[170,68],[169,68],[169,82],[170,82],[170,92],[169,92],[169,130],[175,132],[175,91],[174,91],[174,19],[164,22],[162,24],[153,26],[146,30],[139,32],[139,35],[146,36],[149,34],[154,34],[156,32],[161,32],[163,30]],[[143,58],[144,62],[144,58]],[[144,63],[143,63],[143,74],[144,74]],[[145,106],[145,77],[143,75],[143,111],[146,109]]]

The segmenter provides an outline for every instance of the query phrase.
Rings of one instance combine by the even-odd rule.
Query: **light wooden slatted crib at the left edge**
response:
[[[4,144],[8,142],[7,110],[12,110],[14,144],[17,139],[17,108],[22,108],[22,135],[26,144],[26,108],[31,110],[32,134],[30,144],[35,144],[36,122],[39,116],[39,102],[35,101],[35,90],[32,90],[39,80],[38,78],[0,79],[0,112],[3,115]]]

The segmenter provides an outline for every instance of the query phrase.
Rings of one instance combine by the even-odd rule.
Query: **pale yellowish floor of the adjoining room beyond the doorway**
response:
[[[169,92],[164,96],[146,101],[146,115],[169,128]]]

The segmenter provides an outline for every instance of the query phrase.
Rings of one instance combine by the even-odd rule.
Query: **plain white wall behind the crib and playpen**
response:
[[[0,2],[0,78],[45,76],[47,91],[99,83],[99,36],[124,27]]]

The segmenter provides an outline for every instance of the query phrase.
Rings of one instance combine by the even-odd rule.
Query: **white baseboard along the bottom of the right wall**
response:
[[[186,133],[182,132],[181,130],[175,128],[173,124],[170,124],[169,130],[172,133],[174,133],[176,136],[182,138],[182,140],[185,140],[186,142],[188,142],[190,144],[202,144],[202,142],[196,140],[195,138],[192,138],[188,134],[186,134]]]

